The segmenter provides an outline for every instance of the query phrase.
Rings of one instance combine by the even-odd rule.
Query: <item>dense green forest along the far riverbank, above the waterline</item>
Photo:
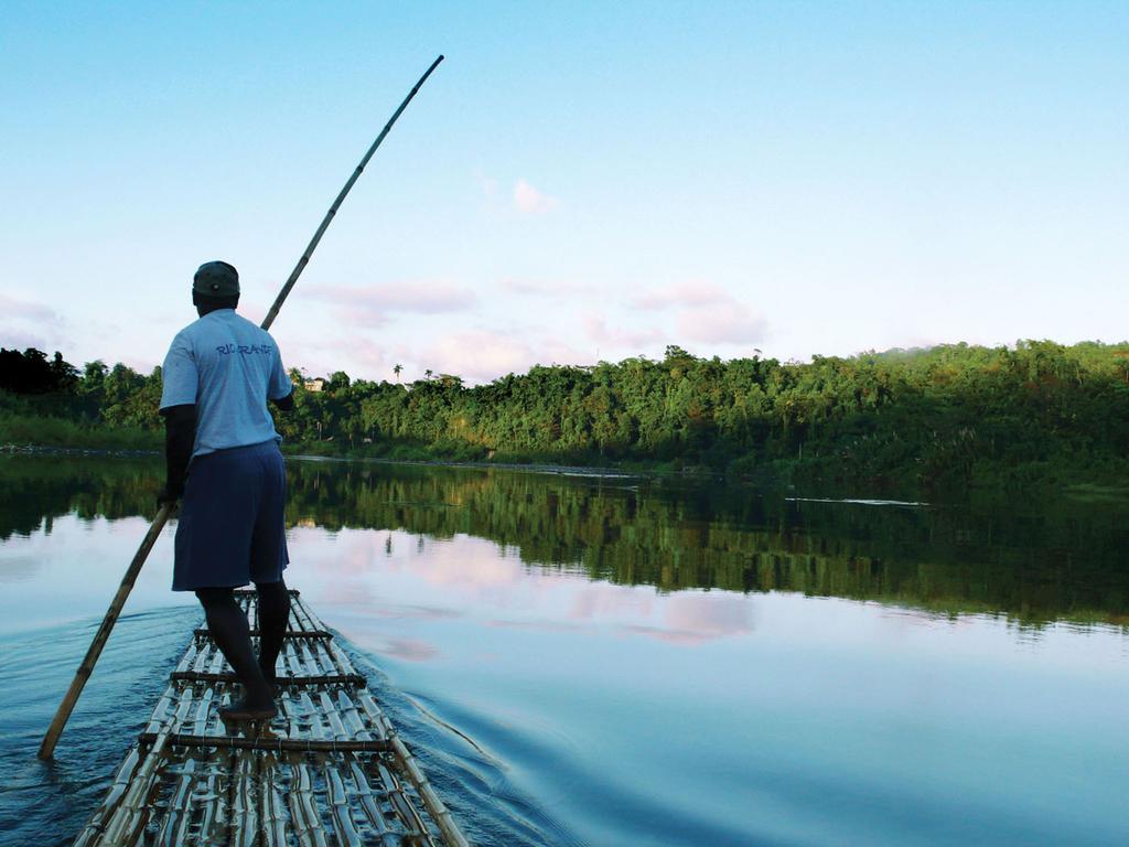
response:
[[[159,368],[80,370],[37,350],[0,357],[0,440],[44,437],[42,418],[54,418],[72,427],[67,438],[120,431],[158,443]],[[803,364],[668,347],[662,360],[537,366],[475,386],[430,373],[410,384],[291,376],[296,409],[278,428],[289,449],[307,453],[710,469],[876,488],[1129,479],[1129,343],[961,343]]]

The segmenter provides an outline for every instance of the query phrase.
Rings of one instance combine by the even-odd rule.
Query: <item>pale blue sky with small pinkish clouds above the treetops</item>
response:
[[[1129,338],[1123,2],[6,3],[0,344],[309,373]]]

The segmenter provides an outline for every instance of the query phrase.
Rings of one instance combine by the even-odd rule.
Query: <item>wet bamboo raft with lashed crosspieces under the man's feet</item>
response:
[[[237,592],[252,635],[254,592]],[[291,592],[279,715],[229,734],[238,683],[196,630],[76,847],[469,847],[365,678]]]

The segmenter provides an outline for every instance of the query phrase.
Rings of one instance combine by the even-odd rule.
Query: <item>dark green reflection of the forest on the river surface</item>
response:
[[[489,539],[531,567],[662,591],[795,591],[939,612],[1129,623],[1121,516],[900,509],[751,489],[290,462],[287,524]],[[0,461],[0,539],[44,518],[151,515],[158,461]]]

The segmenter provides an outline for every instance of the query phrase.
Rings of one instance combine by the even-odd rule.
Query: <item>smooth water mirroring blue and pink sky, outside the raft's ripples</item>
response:
[[[145,529],[71,516],[0,544],[0,631],[100,615]],[[289,538],[326,623],[594,845],[1129,835],[1129,638],[1109,627],[664,593],[469,535]],[[194,602],[170,556],[168,530],[126,613]]]

